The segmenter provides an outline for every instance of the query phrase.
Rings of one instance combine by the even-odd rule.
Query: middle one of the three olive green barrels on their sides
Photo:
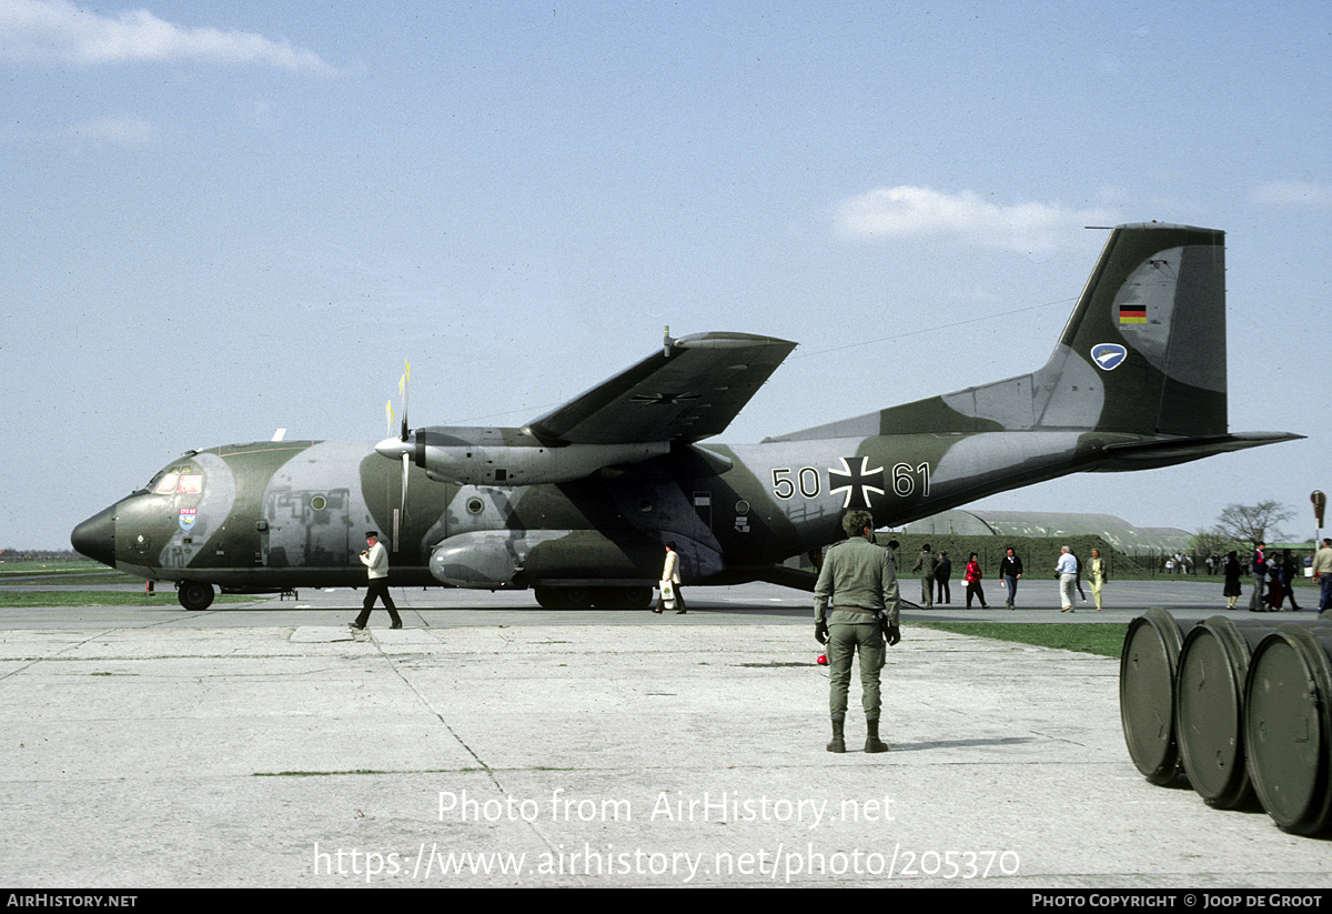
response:
[[[1315,628],[1332,626],[1313,624]],[[1184,637],[1175,670],[1175,739],[1188,782],[1211,806],[1236,809],[1252,785],[1244,765],[1244,685],[1259,644],[1277,620],[1213,616]]]

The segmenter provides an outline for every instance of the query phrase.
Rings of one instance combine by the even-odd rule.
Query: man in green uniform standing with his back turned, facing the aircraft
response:
[[[883,668],[883,629],[887,616],[890,645],[902,640],[898,614],[902,601],[888,553],[874,545],[874,517],[851,510],[842,518],[848,540],[829,549],[814,586],[814,637],[829,646],[829,711],[832,715],[830,753],[846,751],[846,706],[851,684],[851,657],[860,656],[860,702],[867,734],[864,751],[883,753],[879,739],[879,670]],[[832,609],[829,610],[829,600]]]

